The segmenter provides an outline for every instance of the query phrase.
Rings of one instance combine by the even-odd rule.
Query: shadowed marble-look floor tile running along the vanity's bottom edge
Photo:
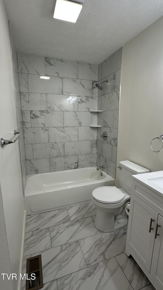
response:
[[[123,253],[115,258],[134,290],[151,283],[132,257],[128,258],[126,253]]]

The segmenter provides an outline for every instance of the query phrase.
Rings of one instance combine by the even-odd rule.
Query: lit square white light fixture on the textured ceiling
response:
[[[55,0],[53,17],[75,23],[82,10],[83,4],[84,0]]]

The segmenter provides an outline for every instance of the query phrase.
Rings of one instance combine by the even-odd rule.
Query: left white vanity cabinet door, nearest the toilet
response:
[[[131,194],[127,243],[150,272],[158,213]],[[149,232],[151,219],[151,232]]]

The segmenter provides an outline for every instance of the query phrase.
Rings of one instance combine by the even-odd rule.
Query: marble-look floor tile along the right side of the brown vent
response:
[[[35,255],[40,254],[44,283],[87,267],[78,241],[35,253]],[[28,255],[24,258],[32,256],[34,255]]]

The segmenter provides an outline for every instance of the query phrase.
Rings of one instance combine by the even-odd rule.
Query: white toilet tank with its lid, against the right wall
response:
[[[149,172],[148,169],[128,160],[119,162],[119,166],[122,168],[119,169],[119,184],[129,194],[131,194],[132,175]]]

